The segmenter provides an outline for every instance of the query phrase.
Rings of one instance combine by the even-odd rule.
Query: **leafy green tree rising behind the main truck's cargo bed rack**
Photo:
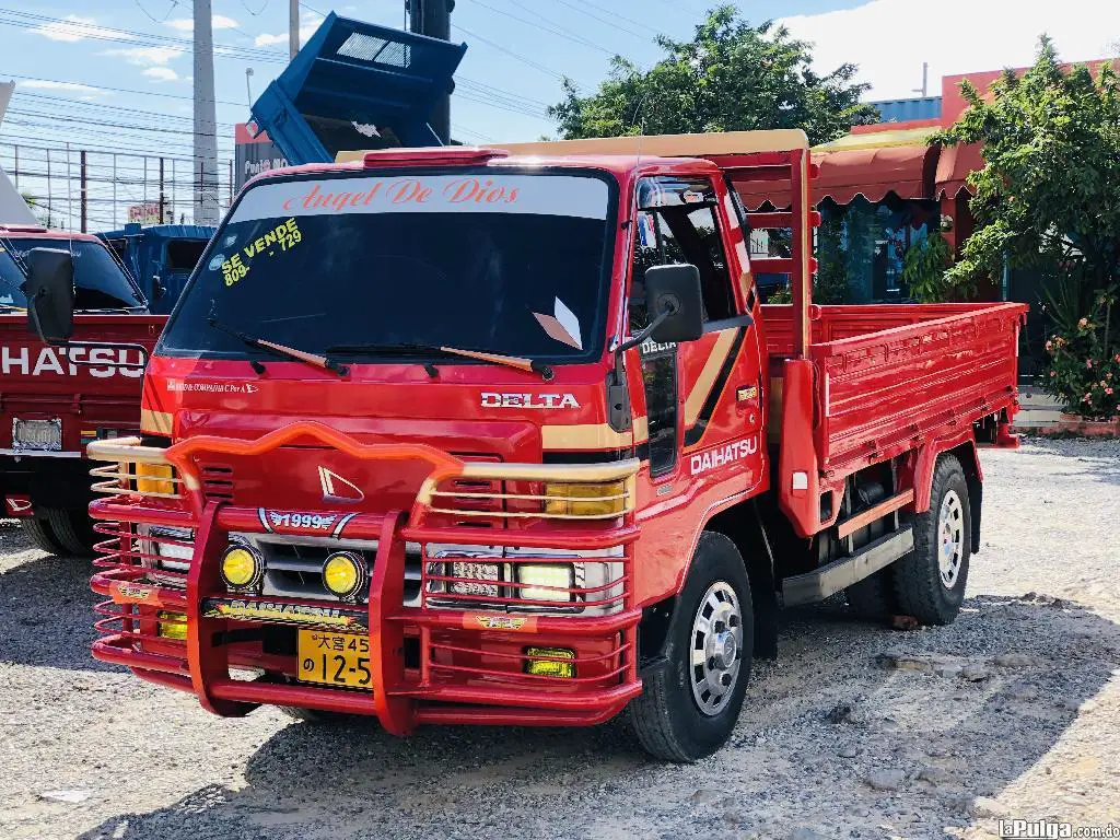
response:
[[[564,100],[549,109],[569,140],[800,128],[812,143],[878,121],[859,99],[856,65],[812,71],[810,45],[772,21],[752,26],[720,6],[690,41],[657,37],[665,57],[647,71],[616,56],[599,88],[581,96],[566,80]]]

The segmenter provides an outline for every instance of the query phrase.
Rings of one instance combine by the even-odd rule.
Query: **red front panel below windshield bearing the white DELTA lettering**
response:
[[[255,440],[297,421],[314,421],[360,444],[424,444],[466,460],[540,464],[603,451],[595,430],[606,428],[605,368],[558,367],[556,379],[496,365],[356,364],[347,377],[292,362],[155,357],[144,382],[143,430],[176,442],[198,436]],[[617,447],[617,440],[607,439]],[[324,470],[335,495],[366,496],[355,510],[408,508],[430,465],[360,461],[307,437],[264,455],[194,456],[217,495],[230,489],[242,506],[338,510],[325,498]],[[224,476],[224,477],[223,477]],[[225,485],[223,485],[223,482]],[[372,493],[371,493],[372,491]]]

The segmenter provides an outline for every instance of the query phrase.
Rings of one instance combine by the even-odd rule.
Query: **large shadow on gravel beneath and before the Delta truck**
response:
[[[205,786],[82,837],[782,837],[811,823],[877,838],[894,833],[884,814],[902,836],[943,837],[970,824],[973,797],[1044,756],[1120,661],[1117,626],[1062,603],[980,596],[953,626],[912,633],[849,622],[836,605],[786,622],[783,657],[757,669],[731,744],[691,767],[647,759],[624,721],[404,740],[363,720],[292,724],[252,756],[244,788]],[[988,674],[888,670],[877,659],[888,650],[964,651]],[[1006,653],[1037,659],[992,664]],[[875,768],[903,771],[897,790],[865,784]]]

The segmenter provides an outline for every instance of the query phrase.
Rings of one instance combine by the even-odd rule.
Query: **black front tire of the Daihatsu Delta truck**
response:
[[[719,700],[718,709],[706,713],[701,711],[692,685],[696,674],[691,662],[693,642],[703,636],[698,633],[693,637],[693,622],[698,610],[707,603],[709,592],[720,585],[729,586],[738,601],[741,643],[736,645],[738,671],[731,678],[729,690]],[[642,747],[655,758],[691,764],[724,746],[735,729],[743,707],[750,679],[754,643],[750,584],[743,556],[727,536],[706,531],[700,535],[692,568],[665,638],[666,664],[647,675],[645,690],[631,703],[631,724]],[[731,662],[731,659],[727,661]],[[710,666],[704,663],[696,668]]]

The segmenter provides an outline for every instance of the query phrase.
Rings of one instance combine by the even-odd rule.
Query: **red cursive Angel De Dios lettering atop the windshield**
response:
[[[343,181],[345,183],[345,181]],[[429,183],[422,178],[399,178],[393,181],[376,180],[365,189],[326,193],[321,184],[315,184],[304,195],[291,196],[281,205],[286,213],[293,208],[328,208],[335,213],[360,206],[370,206],[376,199],[381,204],[428,204],[433,195],[437,203],[447,204],[513,204],[517,200],[517,187],[495,185],[493,178],[457,178],[451,181]],[[437,194],[437,189],[439,193]]]

